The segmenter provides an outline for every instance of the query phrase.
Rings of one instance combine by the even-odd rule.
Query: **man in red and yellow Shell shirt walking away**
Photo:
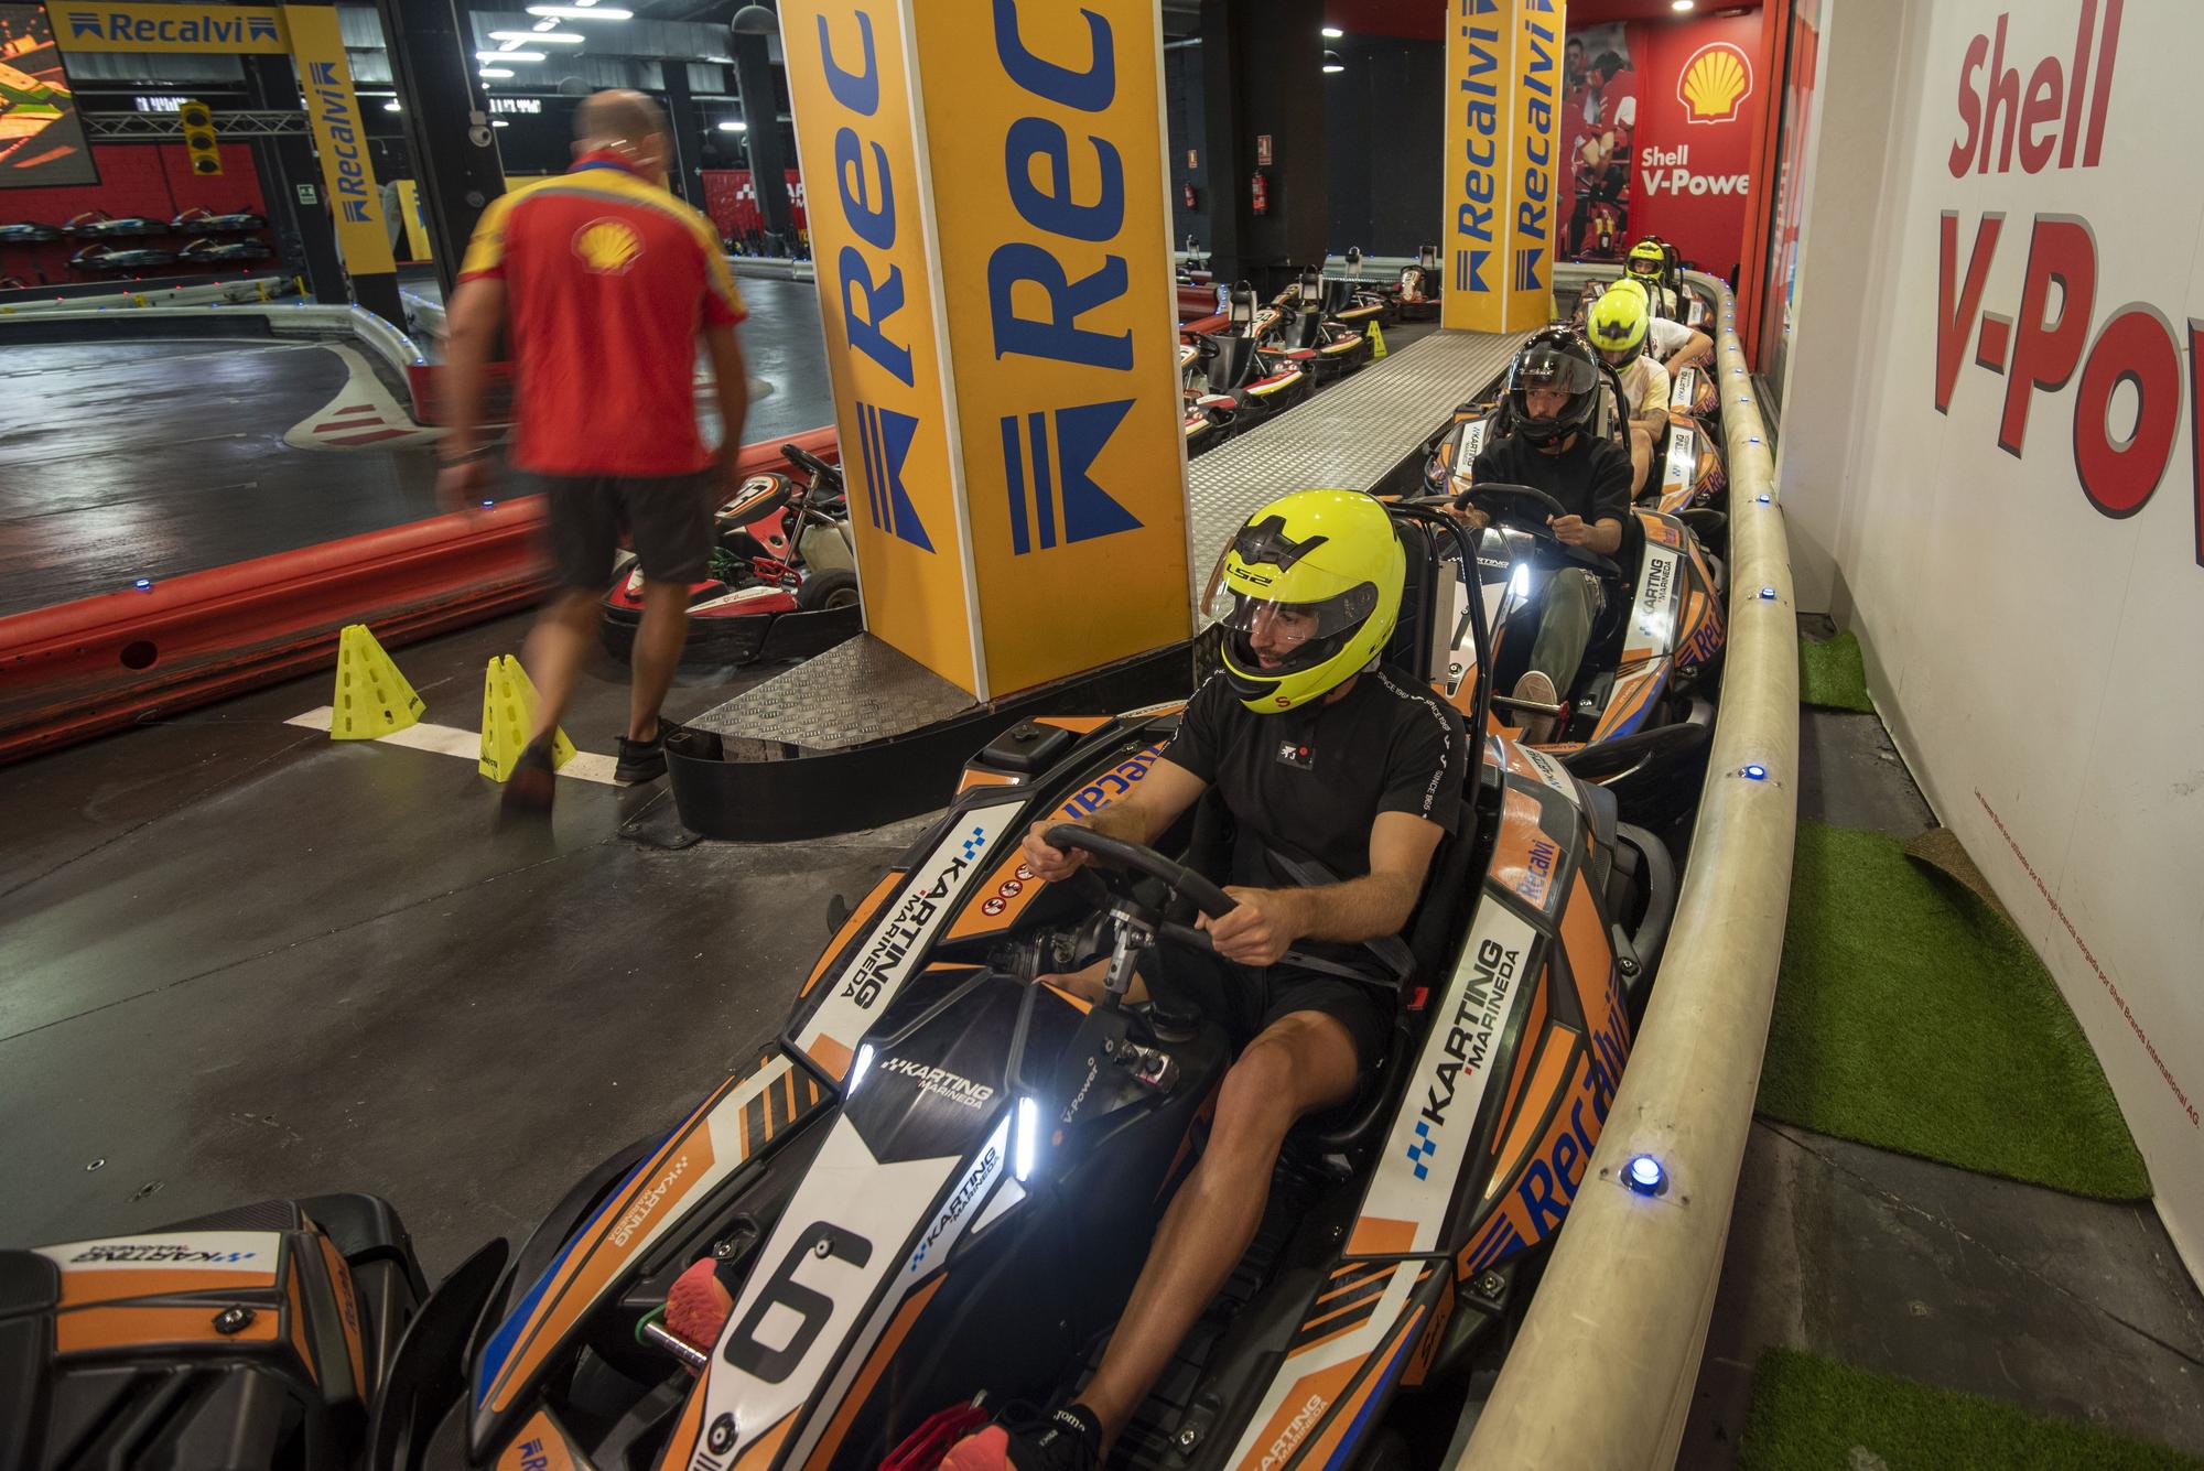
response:
[[[666,771],[659,705],[681,661],[688,588],[705,577],[712,511],[734,493],[749,394],[734,324],[743,297],[701,214],[666,192],[672,141],[641,92],[597,92],[575,115],[575,163],[483,211],[445,317],[452,432],[439,491],[474,498],[489,476],[483,368],[511,335],[516,436],[509,460],[549,502],[558,601],[529,632],[538,707],[505,806],[549,810],[551,740],[595,641],[597,599],[619,535],[644,573],[622,782]],[[719,451],[696,432],[703,337],[719,379]]]

